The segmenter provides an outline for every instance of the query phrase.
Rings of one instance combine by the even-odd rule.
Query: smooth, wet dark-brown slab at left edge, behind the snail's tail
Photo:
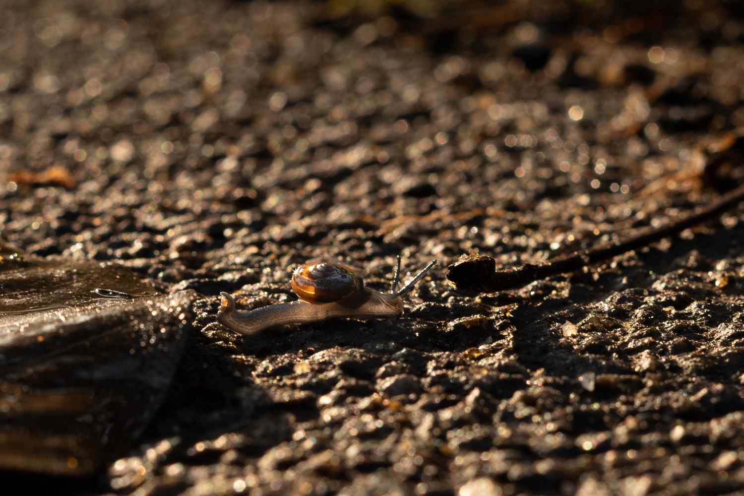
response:
[[[194,292],[0,245],[0,470],[92,474],[161,404]]]

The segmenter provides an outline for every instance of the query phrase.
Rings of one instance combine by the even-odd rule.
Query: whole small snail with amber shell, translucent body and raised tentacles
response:
[[[319,322],[329,318],[397,317],[403,313],[403,294],[411,291],[436,263],[437,260],[432,260],[398,290],[398,257],[390,293],[369,289],[362,277],[340,263],[300,265],[292,273],[291,280],[292,290],[300,300],[240,312],[235,310],[234,298],[221,292],[222,303],[217,321],[235,332],[251,335],[269,327]]]

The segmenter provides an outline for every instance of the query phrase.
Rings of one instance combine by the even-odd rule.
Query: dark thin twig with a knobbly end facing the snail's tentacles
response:
[[[455,283],[458,289],[475,289],[480,292],[496,292],[526,286],[533,281],[555,274],[577,271],[626,251],[643,248],[667,236],[674,236],[729,210],[743,200],[744,185],[722,195],[705,207],[696,209],[679,220],[667,222],[659,228],[642,228],[635,235],[620,242],[604,243],[589,250],[576,251],[541,265],[525,264],[517,268],[497,271],[496,261],[493,258],[469,257],[449,265],[447,279]]]

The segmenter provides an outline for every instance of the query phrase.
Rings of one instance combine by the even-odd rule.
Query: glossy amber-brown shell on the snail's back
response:
[[[295,268],[292,291],[309,303],[331,303],[364,287],[362,278],[336,263],[309,263]]]

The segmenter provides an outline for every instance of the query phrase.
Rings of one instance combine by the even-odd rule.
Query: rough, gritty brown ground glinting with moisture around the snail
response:
[[[740,7],[3,4],[3,240],[198,294],[149,428],[69,492],[744,489],[744,207],[521,289],[445,278],[461,254],[540,263],[737,184]],[[386,289],[397,254],[440,265],[395,321],[216,321],[222,291],[293,300],[306,260]]]

